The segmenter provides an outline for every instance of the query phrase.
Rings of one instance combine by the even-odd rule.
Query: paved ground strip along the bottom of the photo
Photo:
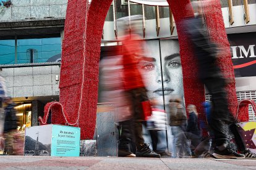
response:
[[[0,156],[0,169],[256,169],[256,160],[205,158],[120,158]]]

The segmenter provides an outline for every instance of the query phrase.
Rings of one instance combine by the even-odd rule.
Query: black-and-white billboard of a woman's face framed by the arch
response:
[[[139,63],[150,99],[166,105],[172,97],[184,97],[179,42],[156,39],[145,42],[145,56]]]

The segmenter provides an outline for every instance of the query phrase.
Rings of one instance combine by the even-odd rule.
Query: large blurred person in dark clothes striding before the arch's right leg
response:
[[[207,2],[204,2],[204,4],[207,4]],[[210,41],[200,2],[192,2],[192,6],[198,15],[195,17],[194,15],[187,15],[187,18],[182,22],[182,30],[187,34],[189,42],[194,47],[194,55],[198,62],[198,76],[212,96],[213,109],[210,126],[216,142],[213,156],[215,158],[241,159],[244,158],[244,155],[228,147],[228,135],[223,131],[223,124],[233,123],[234,118],[229,111],[228,99],[224,89],[226,80],[216,63],[218,46]],[[188,4],[187,10],[190,10],[190,7],[190,4]],[[194,14],[194,11],[187,14]]]

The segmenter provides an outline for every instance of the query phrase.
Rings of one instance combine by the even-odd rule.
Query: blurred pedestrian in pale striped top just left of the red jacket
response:
[[[132,126],[131,104],[129,95],[124,90],[121,81],[123,76],[121,58],[111,52],[108,57],[101,60],[100,67],[103,71],[104,102],[113,104],[116,113],[117,128],[119,129],[118,156],[135,157],[131,148],[134,141],[132,137],[134,127]]]

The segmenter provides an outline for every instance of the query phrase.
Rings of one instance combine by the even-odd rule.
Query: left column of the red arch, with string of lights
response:
[[[98,100],[101,34],[112,0],[69,0],[62,45],[59,102],[69,124],[92,139]]]

